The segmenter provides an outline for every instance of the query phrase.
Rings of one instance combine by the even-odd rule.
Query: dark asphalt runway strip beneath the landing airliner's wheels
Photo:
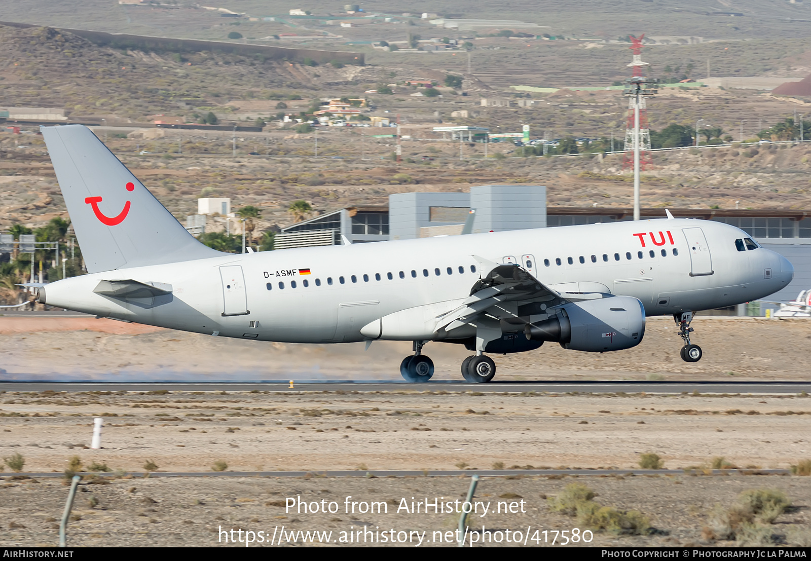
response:
[[[0,382],[3,392],[536,392],[536,393],[711,393],[795,394],[811,392],[811,382],[641,382],[641,381],[494,381],[429,383],[346,380],[266,382]]]

